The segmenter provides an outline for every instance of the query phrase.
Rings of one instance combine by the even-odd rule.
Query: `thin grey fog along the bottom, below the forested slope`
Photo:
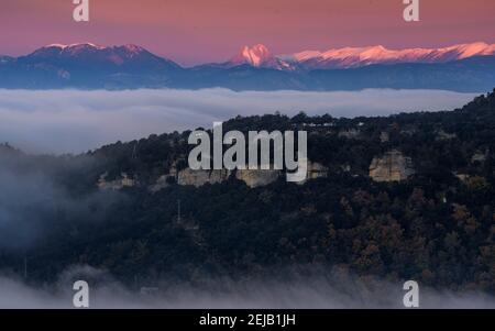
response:
[[[89,266],[75,266],[57,284],[28,286],[22,280],[0,277],[0,308],[74,308],[72,286],[89,284],[90,308],[164,309],[344,309],[403,306],[403,283],[365,279],[346,273],[315,271],[301,275],[280,269],[284,280],[260,277],[250,280],[201,279],[200,285],[162,280],[156,287],[131,290],[110,275]],[[481,293],[450,293],[420,286],[420,308],[495,308],[495,298]]]

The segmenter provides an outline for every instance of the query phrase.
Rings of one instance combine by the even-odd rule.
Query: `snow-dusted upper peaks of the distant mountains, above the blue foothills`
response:
[[[244,46],[232,58],[222,64],[211,64],[224,68],[250,65],[257,68],[278,70],[346,69],[374,64],[398,63],[447,63],[473,56],[495,55],[495,44],[483,42],[460,44],[443,48],[387,49],[384,46],[332,48],[326,52],[302,51],[295,54],[274,55],[263,45]],[[121,66],[131,62],[147,65],[178,66],[169,59],[156,56],[136,45],[100,46],[91,43],[52,44],[38,48],[26,59],[48,60],[92,60]],[[208,66],[208,65],[206,65]]]

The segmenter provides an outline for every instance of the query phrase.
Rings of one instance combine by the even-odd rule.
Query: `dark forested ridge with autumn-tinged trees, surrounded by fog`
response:
[[[235,178],[201,187],[170,181],[150,191],[173,165],[187,166],[189,132],[77,156],[31,156],[6,144],[3,173],[28,187],[50,178],[56,189],[43,203],[4,202],[19,211],[20,223],[0,223],[7,231],[0,240],[9,242],[0,244],[0,269],[22,274],[29,260],[29,280],[51,282],[70,265],[87,264],[132,285],[323,265],[495,293],[495,92],[453,111],[238,117],[227,130],[307,130],[309,158],[328,175],[256,188]],[[388,151],[410,157],[415,174],[373,180],[370,164]],[[109,180],[124,173],[136,185],[102,191],[103,173]],[[14,185],[1,188],[2,199]]]

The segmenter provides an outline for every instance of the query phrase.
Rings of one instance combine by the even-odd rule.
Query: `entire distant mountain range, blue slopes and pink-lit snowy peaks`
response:
[[[244,46],[230,60],[185,68],[138,45],[52,44],[0,56],[0,88],[127,89],[222,87],[233,90],[441,88],[482,91],[495,82],[495,45],[389,51],[383,46],[273,55]]]

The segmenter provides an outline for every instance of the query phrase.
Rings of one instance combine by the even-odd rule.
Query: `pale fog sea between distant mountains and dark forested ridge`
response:
[[[452,110],[475,93],[362,91],[0,90],[0,142],[34,153],[79,153],[119,140],[209,128],[238,114],[388,115]]]

